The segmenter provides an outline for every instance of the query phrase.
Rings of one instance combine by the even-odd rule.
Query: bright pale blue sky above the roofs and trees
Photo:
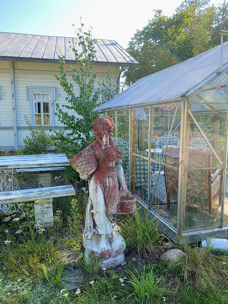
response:
[[[76,37],[78,29],[92,26],[96,39],[116,40],[126,48],[137,29],[146,26],[154,11],[171,16],[181,0],[0,0],[0,31],[33,35]],[[223,0],[214,0],[216,6]]]

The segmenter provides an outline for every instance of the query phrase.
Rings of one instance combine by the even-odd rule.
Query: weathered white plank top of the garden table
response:
[[[69,166],[65,154],[1,156],[0,169]]]

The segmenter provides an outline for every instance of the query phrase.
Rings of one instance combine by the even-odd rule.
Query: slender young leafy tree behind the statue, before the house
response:
[[[79,87],[79,95],[74,93],[74,85],[67,81],[66,70],[64,70],[64,56],[59,56],[60,76],[55,75],[57,81],[67,93],[66,101],[68,104],[62,105],[62,108],[71,110],[71,114],[68,114],[67,111],[60,109],[60,106],[56,104],[55,115],[58,116],[60,122],[65,126],[64,129],[67,130],[65,144],[71,147],[72,154],[78,152],[79,147],[83,149],[92,142],[93,122],[97,118],[93,112],[98,102],[98,92],[94,89],[96,72],[93,71],[96,41],[92,38],[91,28],[88,32],[83,33],[82,26],[81,23],[81,28],[77,32],[80,39],[78,46],[82,47],[82,52],[78,54],[78,51],[72,46],[75,59],[80,66],[80,73],[71,65],[74,71],[72,80]],[[72,112],[75,114],[72,115]],[[60,132],[55,133],[57,138],[62,137]],[[75,147],[77,148],[75,149]]]

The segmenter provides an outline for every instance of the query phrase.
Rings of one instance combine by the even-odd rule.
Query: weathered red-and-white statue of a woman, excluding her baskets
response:
[[[86,257],[103,259],[105,267],[124,260],[126,243],[112,224],[116,221],[119,198],[130,196],[121,166],[122,155],[112,139],[113,128],[110,117],[97,118],[93,125],[97,140],[90,147],[95,156],[96,169],[89,176],[89,199],[83,232]],[[80,177],[85,180],[88,175],[80,174]],[[121,183],[120,190],[117,177]]]

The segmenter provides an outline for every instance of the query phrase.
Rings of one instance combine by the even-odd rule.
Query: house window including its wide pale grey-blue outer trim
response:
[[[26,87],[33,126],[54,126],[55,87]]]

